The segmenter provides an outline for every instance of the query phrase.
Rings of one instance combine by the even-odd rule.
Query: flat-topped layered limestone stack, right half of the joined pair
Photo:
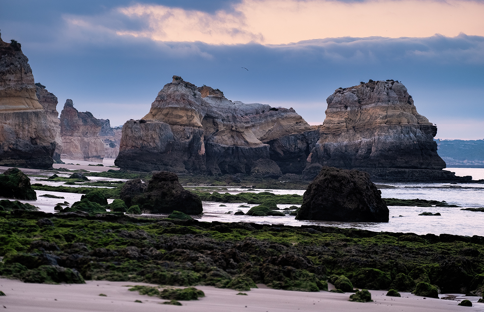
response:
[[[417,112],[402,83],[370,80],[336,89],[326,102],[324,123],[306,133],[313,138],[309,164],[359,169],[374,179],[452,176],[441,170],[437,127]]]

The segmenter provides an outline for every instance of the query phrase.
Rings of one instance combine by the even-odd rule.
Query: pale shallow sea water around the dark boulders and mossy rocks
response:
[[[471,175],[474,179],[484,178],[484,168],[448,168],[456,172],[459,176]],[[94,179],[94,178],[93,178]],[[99,178],[106,179],[109,178]],[[34,182],[33,182],[34,183]],[[42,183],[46,184],[45,181]],[[59,185],[61,183],[53,183]],[[435,199],[439,201],[445,200],[449,204],[456,204],[463,208],[478,208],[484,207],[484,184],[446,184],[446,183],[386,183],[392,185],[394,189],[382,189],[382,197],[385,198],[400,198],[400,199]],[[252,193],[259,193],[266,190],[256,190]],[[300,194],[304,190],[270,190],[275,194]],[[219,193],[241,193],[247,192],[239,188],[227,188],[227,191],[218,191]],[[65,197],[64,199],[55,199],[40,197],[45,193],[54,194]],[[37,191],[38,199],[36,201],[22,201],[28,202],[32,205],[38,206],[45,212],[54,212],[55,204],[67,201],[73,204],[80,199],[80,194],[73,193],[59,193],[59,192],[44,192]],[[109,200],[111,202],[112,200]],[[247,205],[249,208],[239,208],[238,204],[227,204],[227,207],[220,207],[222,203],[203,202],[204,215],[199,219],[200,221],[220,221],[220,222],[255,222],[266,224],[287,224],[293,226],[301,226],[302,224],[318,224],[326,226],[338,226],[344,228],[359,228],[371,231],[389,231],[389,232],[411,232],[416,234],[455,234],[455,235],[479,235],[484,236],[484,212],[473,212],[468,210],[460,210],[461,208],[442,208],[442,207],[389,207],[390,222],[389,223],[348,223],[348,222],[323,222],[323,221],[298,221],[294,216],[285,217],[252,217],[252,216],[236,216],[233,212],[238,209],[244,213],[250,207],[256,205]],[[292,205],[278,205],[279,208],[286,208]],[[299,205],[296,205],[299,206]],[[226,212],[232,211],[230,214]],[[439,212],[441,216],[419,216],[422,212]]]

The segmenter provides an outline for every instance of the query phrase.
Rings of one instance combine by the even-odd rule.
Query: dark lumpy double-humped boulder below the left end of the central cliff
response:
[[[139,206],[151,213],[171,213],[173,210],[186,214],[202,213],[200,198],[183,189],[178,176],[172,172],[158,172],[145,183],[140,178],[129,180],[121,189],[120,198],[127,207]]]

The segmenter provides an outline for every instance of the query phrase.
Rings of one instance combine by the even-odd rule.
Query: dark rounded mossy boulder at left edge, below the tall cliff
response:
[[[35,200],[37,194],[29,177],[17,168],[10,168],[0,174],[0,197]]]

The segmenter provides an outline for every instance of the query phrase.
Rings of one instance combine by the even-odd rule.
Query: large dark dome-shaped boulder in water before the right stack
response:
[[[368,173],[325,166],[304,192],[296,219],[388,222],[389,210]]]

